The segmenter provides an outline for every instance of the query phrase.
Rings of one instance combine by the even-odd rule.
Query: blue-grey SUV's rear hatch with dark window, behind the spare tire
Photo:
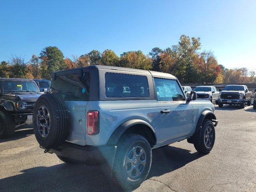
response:
[[[76,71],[74,71],[76,72]],[[86,145],[86,106],[89,100],[90,74],[65,74],[51,80],[50,92],[58,93],[69,111],[69,135],[66,141]]]

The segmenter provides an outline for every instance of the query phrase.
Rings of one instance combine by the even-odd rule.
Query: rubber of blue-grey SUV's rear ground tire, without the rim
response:
[[[128,176],[125,160],[132,148],[139,146],[146,154],[146,164],[141,174],[136,178]],[[116,184],[125,189],[133,189],[146,179],[152,163],[152,151],[148,140],[141,135],[126,134],[120,138],[117,144],[117,152],[113,166],[113,179]],[[132,168],[133,169],[133,168]]]

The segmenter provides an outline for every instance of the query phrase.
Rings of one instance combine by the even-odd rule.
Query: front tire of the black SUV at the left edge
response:
[[[15,121],[12,114],[6,110],[0,110],[0,138],[8,138],[15,132]]]

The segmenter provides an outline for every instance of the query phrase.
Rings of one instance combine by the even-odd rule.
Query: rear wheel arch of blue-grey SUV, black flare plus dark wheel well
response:
[[[139,134],[144,136],[148,142],[150,143],[150,146],[154,146],[157,142],[156,133],[154,131],[154,128],[147,123],[144,120],[140,119],[133,119],[128,120],[124,123],[122,123],[110,136],[108,143],[109,145],[117,144],[120,137],[124,134],[133,133],[133,134]]]

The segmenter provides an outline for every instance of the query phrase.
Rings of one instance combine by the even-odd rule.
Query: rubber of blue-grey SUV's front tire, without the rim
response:
[[[204,139],[205,139],[204,133],[205,133],[206,128],[208,128],[208,126],[210,126],[212,128],[212,143],[211,143],[210,147],[207,147],[204,142]],[[212,123],[211,120],[205,119],[202,124],[201,134],[198,134],[198,138],[196,139],[196,142],[194,142],[194,147],[200,153],[209,153],[214,146],[214,142],[215,142],[214,124]]]

